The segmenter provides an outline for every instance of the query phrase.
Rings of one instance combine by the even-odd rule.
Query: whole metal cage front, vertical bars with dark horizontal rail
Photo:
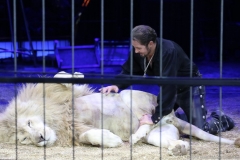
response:
[[[74,3],[75,1],[72,0],[71,1],[71,44],[72,44],[72,74],[75,72],[75,50],[74,50]],[[130,30],[133,28],[133,21],[134,21],[134,12],[133,12],[133,8],[134,8],[134,2],[133,0],[131,0],[130,2]],[[144,85],[148,85],[148,84],[157,84],[160,85],[159,87],[159,92],[160,92],[160,113],[162,111],[162,89],[161,86],[162,85],[212,85],[212,86],[220,86],[219,87],[219,109],[222,110],[222,86],[240,86],[240,79],[224,79],[222,78],[222,67],[223,67],[223,17],[224,17],[224,0],[221,0],[221,10],[220,10],[220,77],[219,79],[198,79],[198,78],[193,78],[192,77],[192,66],[193,66],[193,45],[194,45],[194,39],[193,39],[193,33],[194,33],[194,1],[191,0],[191,5],[190,5],[190,63],[191,63],[191,69],[190,69],[190,77],[189,78],[163,78],[162,77],[162,66],[160,65],[160,73],[159,73],[159,77],[152,77],[152,78],[143,78],[143,77],[139,77],[139,76],[134,76],[133,75],[133,50],[132,50],[132,46],[130,46],[131,48],[131,71],[130,71],[130,77],[129,78],[124,78],[123,80],[121,79],[115,79],[112,78],[107,75],[105,75],[104,73],[104,0],[101,0],[101,74],[98,75],[98,78],[84,78],[84,79],[65,79],[65,78],[46,78],[46,77],[40,77],[40,78],[23,78],[23,77],[17,77],[17,53],[16,53],[16,43],[17,43],[17,16],[16,16],[16,0],[13,1],[13,30],[14,30],[14,72],[12,72],[14,74],[14,77],[2,77],[0,79],[0,83],[88,83],[88,84],[95,84],[96,82],[99,84],[106,84],[106,83],[111,83],[111,84],[144,84]],[[160,27],[159,27],[159,31],[160,31],[160,44],[162,43],[162,37],[163,37],[163,0],[160,0]],[[45,37],[45,33],[46,33],[46,29],[45,29],[45,0],[42,0],[42,51],[45,52],[45,41],[46,41],[46,37]],[[130,32],[130,37],[132,40],[132,34]],[[45,74],[46,73],[46,60],[45,60],[45,56],[43,56],[43,71],[42,73]],[[162,64],[162,48],[160,49],[160,63]],[[131,87],[132,89],[132,87]],[[45,87],[43,88],[43,90],[45,90]],[[74,90],[72,90],[72,94],[73,94]],[[16,96],[16,94],[15,94]],[[190,89],[190,97],[192,97],[192,90]],[[102,97],[103,98],[103,97]],[[43,101],[45,101],[45,97],[43,99]],[[72,104],[74,106],[74,99],[72,99]],[[192,104],[192,101],[190,100],[190,105]],[[102,110],[103,110],[103,101],[102,101]],[[16,108],[16,112],[15,112],[15,119],[16,119],[16,125],[17,125],[17,106]],[[192,113],[192,112],[190,112]],[[162,114],[162,113],[161,113]],[[162,117],[162,115],[160,114],[160,116]],[[72,109],[72,115],[74,115],[74,109]],[[131,126],[131,130],[132,130],[132,113],[130,115],[130,126]],[[44,109],[44,117],[45,117],[45,109]],[[103,127],[103,115],[101,115],[101,125]],[[192,115],[190,114],[190,117],[192,117]],[[45,118],[44,118],[45,120]],[[72,121],[74,124],[74,116],[72,117]],[[190,120],[190,123],[192,122],[192,119]],[[221,122],[221,118],[220,118],[220,122]],[[45,123],[45,121],[44,121]],[[74,125],[73,125],[74,128]],[[103,128],[102,128],[103,129]],[[18,159],[18,144],[17,144],[17,126],[16,126],[16,159]],[[45,133],[45,132],[44,132]],[[132,133],[131,133],[132,134]],[[191,132],[190,132],[191,134]],[[72,135],[74,135],[74,129],[72,130]],[[221,136],[221,134],[220,134]],[[161,136],[160,136],[161,139]],[[104,141],[103,138],[103,134],[102,134],[102,142]],[[159,142],[160,143],[160,142]],[[190,137],[190,143],[191,143],[191,137]],[[73,138],[73,153],[72,153],[72,158],[75,159],[75,148],[74,148],[74,138]],[[101,146],[101,158],[104,159],[104,154],[103,154],[103,146]],[[130,146],[130,157],[132,159],[132,146]],[[160,146],[160,159],[162,158],[162,150],[161,150],[161,146]],[[190,159],[193,158],[192,157],[192,148],[190,145]],[[46,147],[44,147],[44,159],[46,159]],[[221,159],[221,141],[219,140],[219,159]]]

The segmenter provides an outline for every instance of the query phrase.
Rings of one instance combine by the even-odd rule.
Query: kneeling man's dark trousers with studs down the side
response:
[[[190,90],[192,95],[190,96]],[[186,121],[204,130],[207,109],[205,106],[205,86],[178,86],[174,110],[182,108]],[[181,117],[179,117],[181,118]]]

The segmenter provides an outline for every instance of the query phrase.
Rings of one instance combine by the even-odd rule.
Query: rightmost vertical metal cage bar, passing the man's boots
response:
[[[224,0],[221,0],[221,10],[220,10],[220,79],[222,79],[222,62],[223,62],[223,12],[224,12]],[[219,110],[222,112],[222,86],[219,88]],[[220,122],[222,119],[220,116]],[[219,132],[219,159],[221,159],[221,132]]]

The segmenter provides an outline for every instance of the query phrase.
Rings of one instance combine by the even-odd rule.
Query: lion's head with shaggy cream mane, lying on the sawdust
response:
[[[23,85],[17,97],[0,113],[0,142],[36,146],[71,145],[71,87],[41,83]],[[74,97],[93,93],[87,85],[74,87]]]

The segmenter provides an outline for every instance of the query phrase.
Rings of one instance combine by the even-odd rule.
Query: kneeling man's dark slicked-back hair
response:
[[[139,25],[132,30],[132,40],[138,41],[141,45],[147,46],[150,41],[156,42],[157,33],[146,25]]]

